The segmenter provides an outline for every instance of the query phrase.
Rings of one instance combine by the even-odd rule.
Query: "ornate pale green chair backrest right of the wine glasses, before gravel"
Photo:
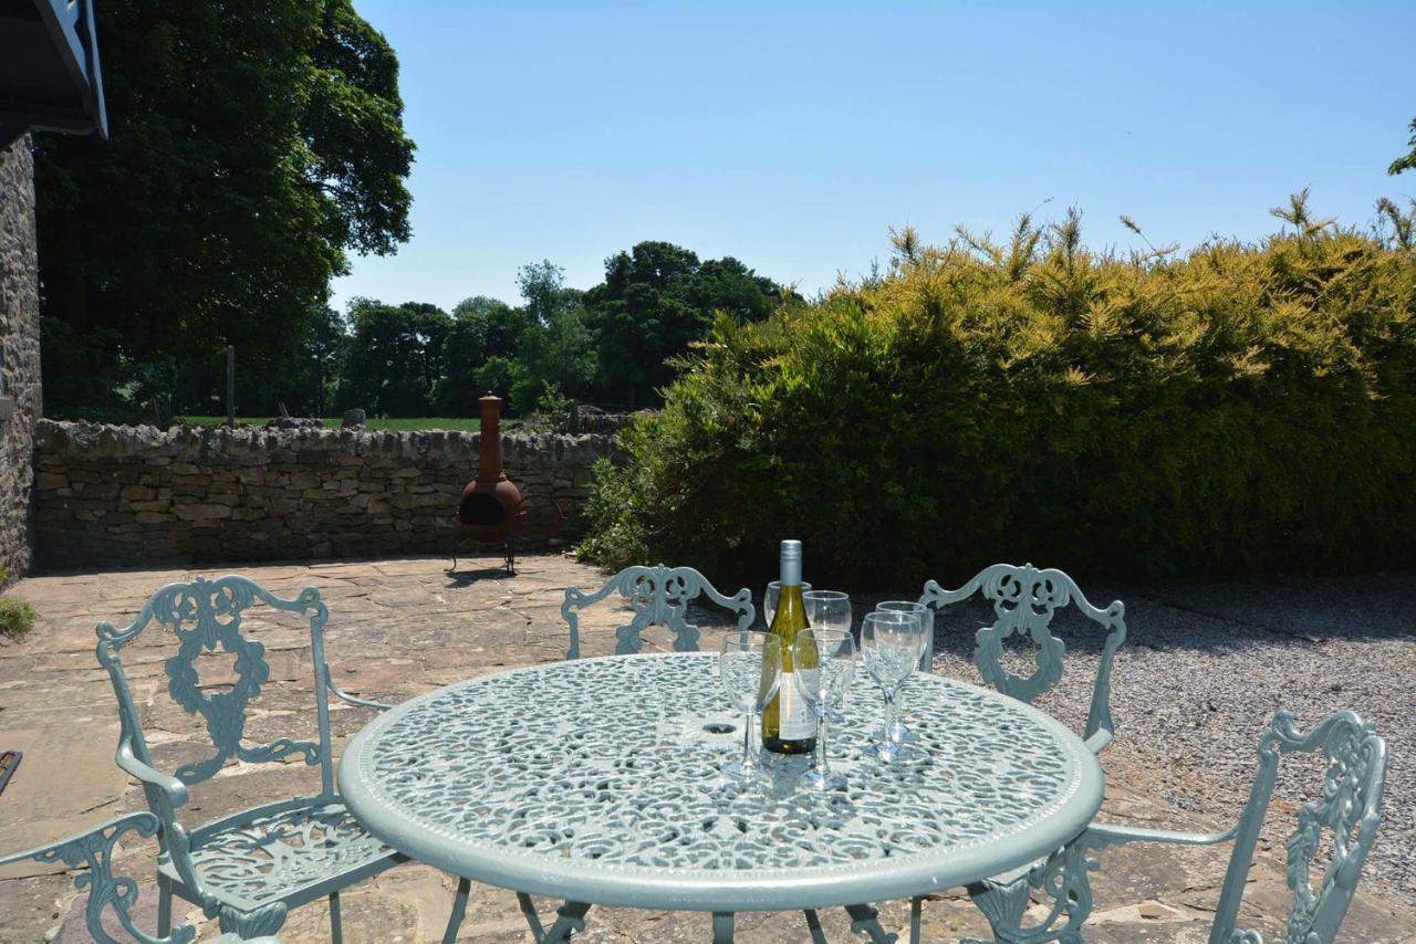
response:
[[[993,626],[983,627],[974,635],[974,665],[986,682],[1029,705],[1062,678],[1066,644],[1052,635],[1052,616],[1059,609],[1075,604],[1078,613],[1107,630],[1082,737],[1093,752],[1110,743],[1116,732],[1112,723],[1112,662],[1117,647],[1126,640],[1126,604],[1114,600],[1104,610],[1097,609],[1072,577],[1056,569],[1039,570],[1031,563],[1021,568],[995,563],[957,590],[944,590],[930,580],[919,601],[937,611],[967,600],[974,593],[981,593],[993,604],[995,617]],[[1037,668],[1031,675],[1014,675],[1003,664],[1003,644],[1014,634],[1027,635],[1032,641]],[[932,651],[933,647],[926,652],[926,660],[932,658]],[[927,664],[925,668],[927,669]]]

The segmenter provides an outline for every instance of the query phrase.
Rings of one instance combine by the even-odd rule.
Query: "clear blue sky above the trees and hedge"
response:
[[[1004,8],[1004,6],[1007,8]],[[514,301],[551,259],[667,239],[803,293],[1007,229],[1052,198],[1092,246],[1253,238],[1301,188],[1365,222],[1416,116],[1416,3],[355,0],[402,62],[413,238],[351,296]],[[1405,202],[1405,201],[1403,201]]]

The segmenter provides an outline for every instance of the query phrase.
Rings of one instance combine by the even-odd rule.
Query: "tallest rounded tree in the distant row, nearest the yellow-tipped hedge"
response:
[[[605,260],[605,282],[585,293],[596,338],[596,385],[609,401],[658,402],[674,378],[667,361],[708,334],[715,313],[760,321],[783,289],[736,259],[700,262],[668,242],[641,242]]]

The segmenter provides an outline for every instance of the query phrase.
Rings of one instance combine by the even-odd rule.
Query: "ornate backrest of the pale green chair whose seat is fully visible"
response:
[[[314,706],[317,740],[278,737],[263,744],[246,744],[246,708],[261,693],[261,686],[270,678],[270,665],[265,658],[265,645],[248,638],[241,631],[242,614],[253,604],[265,603],[276,611],[297,613],[309,618],[310,654],[314,668]],[[120,650],[132,643],[143,630],[156,623],[177,641],[177,652],[163,664],[167,675],[167,692],[188,715],[200,715],[211,737],[212,754],[195,763],[185,763],[170,771],[183,785],[210,780],[228,760],[245,763],[275,763],[286,757],[303,757],[306,764],[320,767],[320,795],[334,795],[334,764],[330,756],[330,715],[326,688],[331,685],[329,667],[324,662],[324,623],[329,610],[314,587],[304,587],[293,599],[282,599],[242,576],[225,576],[215,580],[197,577],[190,583],[169,583],[154,593],[143,606],[142,613],[126,628],[112,623],[98,626],[98,661],[108,669],[118,696],[119,716],[119,760],[135,757],[152,769],[153,759],[143,735],[142,716],[123,672]],[[234,657],[235,684],[229,691],[207,693],[201,688],[197,660],[204,652],[222,652]],[[160,771],[166,773],[166,771]],[[176,805],[170,790],[163,790],[150,781],[143,783],[143,793],[152,810],[163,824],[159,836],[164,852],[184,875],[194,876],[188,858],[187,834],[176,818]],[[195,882],[195,879],[193,877]]]

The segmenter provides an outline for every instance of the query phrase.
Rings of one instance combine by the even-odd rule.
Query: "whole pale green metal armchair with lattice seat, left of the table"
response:
[[[265,744],[245,743],[246,710],[270,678],[265,647],[241,631],[242,614],[256,603],[309,620],[317,740],[278,737]],[[173,894],[218,916],[224,931],[244,936],[272,934],[285,923],[289,909],[329,897],[330,930],[338,941],[340,889],[402,860],[360,827],[334,788],[329,693],[358,705],[377,703],[347,696],[334,686],[324,661],[327,618],[329,610],[314,587],[283,599],[246,577],[225,576],[167,585],[126,628],[99,624],[98,660],[108,669],[119,706],[116,761],[142,783],[149,808],[161,822],[160,934],[167,931]],[[163,664],[167,692],[188,713],[201,716],[212,744],[210,757],[170,774],[153,766],[120,657],[120,650],[149,624],[176,638],[177,651]],[[235,657],[236,681],[229,691],[208,693],[201,688],[195,661],[218,650]],[[187,788],[211,778],[228,761],[287,759],[320,767],[317,795],[244,810],[193,829],[178,821]]]

